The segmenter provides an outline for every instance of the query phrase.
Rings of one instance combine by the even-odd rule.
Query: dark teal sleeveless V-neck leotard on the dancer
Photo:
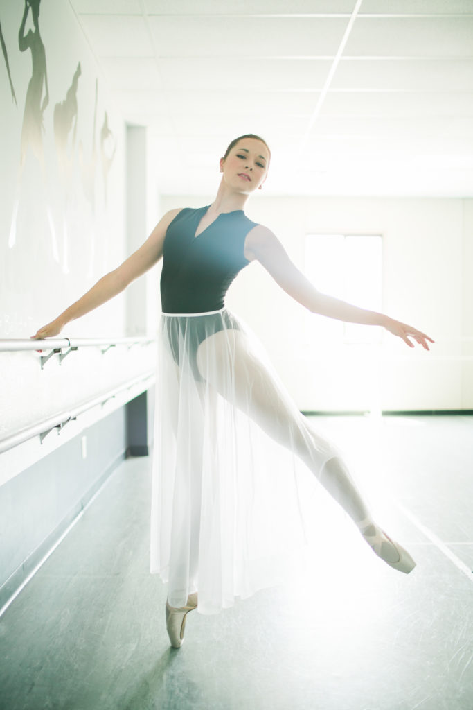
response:
[[[243,253],[245,239],[257,225],[243,209],[235,209],[219,214],[194,236],[208,207],[186,207],[169,224],[160,284],[162,327],[172,357],[180,365],[185,353],[199,381],[196,352],[201,342],[224,328],[239,329],[224,308],[225,296],[235,276],[250,263]]]

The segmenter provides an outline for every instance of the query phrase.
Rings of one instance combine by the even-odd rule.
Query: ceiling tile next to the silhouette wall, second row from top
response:
[[[98,57],[152,57],[143,17],[82,15],[81,23]]]

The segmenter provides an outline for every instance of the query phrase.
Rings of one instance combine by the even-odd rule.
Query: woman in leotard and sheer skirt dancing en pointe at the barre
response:
[[[304,542],[302,479],[315,476],[366,542],[399,572],[415,562],[374,522],[338,450],[309,425],[247,327],[225,307],[235,276],[255,259],[301,305],[378,325],[428,350],[416,328],[320,293],[267,227],[243,208],[271,154],[259,136],[230,143],[212,204],[172,209],[143,246],[35,338],[120,293],[163,258],[162,319],[151,513],[151,572],[168,584],[167,630],[179,648],[189,611],[216,613],[280,577]],[[284,337],[284,336],[283,336]]]

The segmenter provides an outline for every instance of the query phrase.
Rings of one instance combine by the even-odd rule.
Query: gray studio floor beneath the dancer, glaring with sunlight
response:
[[[194,612],[171,650],[148,574],[150,461],[129,459],[1,618],[1,709],[471,710],[473,417],[323,426],[411,575],[333,515],[313,567]]]

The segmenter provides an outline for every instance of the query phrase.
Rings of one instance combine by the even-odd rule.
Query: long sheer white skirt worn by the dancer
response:
[[[163,314],[150,569],[169,604],[198,591],[199,611],[216,613],[282,581],[306,542],[301,476],[325,485],[338,455],[233,314]]]

